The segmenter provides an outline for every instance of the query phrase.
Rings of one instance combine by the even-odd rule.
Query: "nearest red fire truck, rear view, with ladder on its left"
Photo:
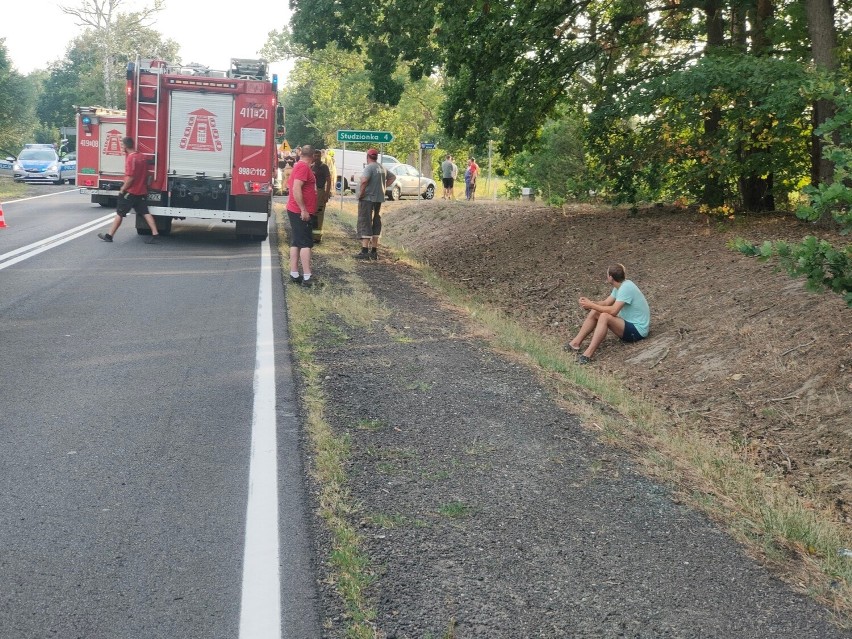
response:
[[[137,58],[127,68],[127,135],[148,158],[148,206],[160,233],[172,220],[235,222],[265,240],[277,168],[278,79],[264,60],[227,71]],[[151,231],[137,216],[136,231]]]

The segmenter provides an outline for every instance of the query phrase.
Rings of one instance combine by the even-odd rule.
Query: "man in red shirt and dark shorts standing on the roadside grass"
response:
[[[311,217],[317,211],[317,179],[311,171],[314,149],[302,147],[299,161],[287,181],[287,217],[290,219],[290,281],[302,286],[313,286],[311,279],[311,249],[314,246],[314,223]],[[299,275],[299,262],[302,274]]]

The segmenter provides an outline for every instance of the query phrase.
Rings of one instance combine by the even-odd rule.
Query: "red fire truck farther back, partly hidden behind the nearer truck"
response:
[[[99,106],[77,109],[77,186],[93,204],[115,207],[124,181],[127,113]]]

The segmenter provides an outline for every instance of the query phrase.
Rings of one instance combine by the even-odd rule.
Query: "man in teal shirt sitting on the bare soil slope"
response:
[[[625,342],[638,342],[648,337],[651,330],[651,308],[648,301],[633,282],[625,279],[623,264],[610,266],[606,271],[606,281],[612,286],[612,293],[605,300],[593,302],[587,297],[580,298],[580,306],[589,311],[580,332],[568,342],[568,347],[576,352],[589,335],[592,341],[579,356],[580,364],[588,364],[598,346],[612,331]]]

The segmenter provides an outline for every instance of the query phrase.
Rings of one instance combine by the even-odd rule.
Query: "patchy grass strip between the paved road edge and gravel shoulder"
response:
[[[284,229],[287,219],[280,211],[277,220],[278,228]],[[334,244],[335,235],[339,235],[339,231],[333,228],[326,231],[324,246]],[[287,241],[284,237],[280,240],[281,268],[287,272]],[[386,317],[387,311],[354,274],[351,260],[343,259],[342,254],[332,255],[328,263],[343,271],[342,282],[327,284],[321,293],[297,286],[287,288],[290,342],[301,374],[301,399],[313,449],[311,472],[320,490],[319,514],[331,534],[328,562],[331,578],[346,611],[346,636],[368,639],[376,636],[376,613],[366,597],[366,590],[375,576],[369,558],[361,549],[357,528],[351,523],[355,519],[355,506],[350,498],[346,474],[350,435],[335,434],[325,419],[326,398],[322,391],[325,372],[316,362],[314,344],[328,334],[336,340],[345,341],[348,339],[345,327],[370,328],[372,321]]]

